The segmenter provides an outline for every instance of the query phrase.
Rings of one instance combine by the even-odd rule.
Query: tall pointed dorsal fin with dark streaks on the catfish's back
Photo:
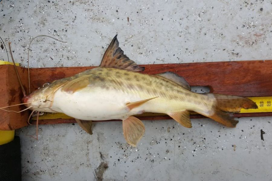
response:
[[[140,67],[124,55],[124,51],[119,47],[117,35],[112,39],[112,42],[104,53],[100,67],[120,68],[130,71],[144,71],[144,67]]]

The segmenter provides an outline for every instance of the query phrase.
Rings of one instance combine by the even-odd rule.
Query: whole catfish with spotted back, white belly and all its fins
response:
[[[256,103],[243,97],[191,92],[185,79],[172,72],[139,73],[143,70],[124,55],[116,35],[99,67],[53,81],[25,96],[23,101],[32,110],[74,117],[89,134],[92,120],[121,119],[124,137],[132,146],[136,146],[145,131],[141,120],[132,116],[135,114],[165,113],[191,128],[189,111],[195,111],[235,127],[238,121],[229,112],[257,108]]]

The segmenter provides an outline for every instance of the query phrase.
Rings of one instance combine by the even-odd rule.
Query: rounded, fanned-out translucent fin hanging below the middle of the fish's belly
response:
[[[124,137],[131,146],[136,146],[144,135],[144,131],[144,124],[140,119],[129,116],[127,119],[123,120]]]

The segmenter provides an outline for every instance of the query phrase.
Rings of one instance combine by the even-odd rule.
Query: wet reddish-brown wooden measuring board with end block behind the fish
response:
[[[6,66],[6,67],[5,67]],[[211,93],[229,94],[242,97],[272,96],[272,60],[238,61],[238,62],[203,62],[184,64],[142,65],[146,74],[174,72],[186,79],[191,86],[208,86]],[[31,68],[31,90],[46,82],[69,77],[95,67],[60,67]],[[23,84],[27,87],[26,68],[19,68]],[[2,95],[0,106],[20,103],[21,91],[12,65],[0,65]],[[12,91],[11,91],[12,90]],[[15,98],[14,98],[15,97]],[[21,107],[22,109],[22,107]],[[1,111],[0,129],[17,129],[26,125],[29,113],[4,113]],[[272,116],[272,113],[240,113],[236,117]],[[201,115],[191,115],[200,118]],[[170,119],[169,116],[141,116],[144,120]],[[108,120],[116,121],[116,120]],[[39,124],[57,124],[75,122],[73,119],[40,120]]]

